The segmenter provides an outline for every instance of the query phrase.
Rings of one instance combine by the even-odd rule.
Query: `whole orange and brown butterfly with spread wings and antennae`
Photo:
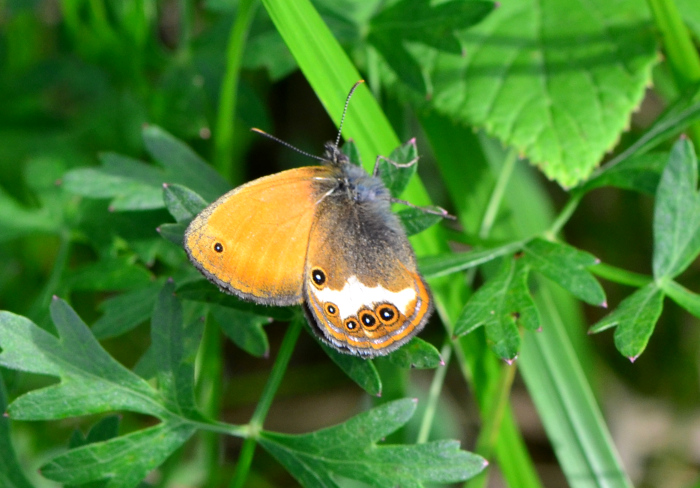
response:
[[[320,166],[220,197],[192,220],[184,245],[224,292],[266,305],[301,303],[324,343],[372,358],[420,332],[433,303],[376,166],[370,175],[352,164],[339,138],[325,145]]]

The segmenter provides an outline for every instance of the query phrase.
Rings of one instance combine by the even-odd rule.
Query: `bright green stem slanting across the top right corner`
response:
[[[673,0],[647,0],[661,33],[668,64],[681,91],[700,82],[700,56]],[[690,128],[693,143],[700,145],[700,124]]]

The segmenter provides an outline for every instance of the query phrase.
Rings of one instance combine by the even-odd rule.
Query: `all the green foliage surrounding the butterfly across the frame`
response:
[[[596,398],[598,356],[630,389],[660,383],[693,407],[699,395],[685,340],[700,318],[694,2],[178,5],[4,11],[0,485],[477,487],[488,459],[508,486],[540,486],[510,397],[519,368],[569,485],[630,486],[598,407],[615,407]],[[376,161],[392,196],[415,205],[396,210],[435,319],[376,361],[297,341],[298,307],[225,295],[182,250],[189,221],[231,183],[280,169],[251,126],[311,152],[333,137],[297,69],[336,124],[366,79],[342,150],[370,171]],[[642,107],[639,127],[652,82],[665,108]],[[552,198],[538,171],[566,194]],[[423,182],[457,224],[441,222]],[[614,338],[593,354],[586,328]],[[412,369],[431,378],[419,409]],[[475,453],[443,440],[476,423],[455,418],[473,408],[449,411],[453,386],[473,394]],[[334,388],[342,402],[328,400]],[[268,428],[293,418],[278,394],[314,394],[314,427]],[[225,420],[251,404],[246,423]],[[228,437],[240,452],[219,452]]]

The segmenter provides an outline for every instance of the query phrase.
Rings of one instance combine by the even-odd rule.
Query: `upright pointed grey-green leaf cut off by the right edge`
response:
[[[698,163],[691,142],[678,141],[661,176],[654,206],[654,278],[673,278],[700,253]]]

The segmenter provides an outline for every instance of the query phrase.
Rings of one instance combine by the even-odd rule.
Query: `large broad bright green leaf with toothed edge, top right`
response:
[[[617,144],[658,60],[636,0],[501,2],[460,39],[462,56],[419,51],[433,97],[416,102],[483,129],[564,187]]]

